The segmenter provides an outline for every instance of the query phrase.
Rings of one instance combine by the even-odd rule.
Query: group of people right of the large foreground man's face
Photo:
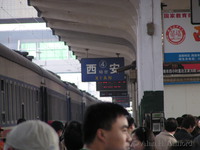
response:
[[[164,130],[154,134],[139,127],[132,132],[131,150],[199,150],[200,118],[190,114],[164,121]]]

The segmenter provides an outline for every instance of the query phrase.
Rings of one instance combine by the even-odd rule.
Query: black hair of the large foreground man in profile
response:
[[[90,105],[83,121],[84,143],[92,143],[98,129],[110,130],[118,116],[128,115],[125,108],[115,103],[101,102]]]

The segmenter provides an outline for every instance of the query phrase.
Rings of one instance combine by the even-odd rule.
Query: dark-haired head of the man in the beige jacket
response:
[[[167,132],[175,132],[178,127],[178,123],[175,118],[168,118],[165,121],[165,130]]]

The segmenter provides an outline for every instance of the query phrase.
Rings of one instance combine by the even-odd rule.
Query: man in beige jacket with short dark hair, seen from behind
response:
[[[170,146],[177,142],[174,137],[178,123],[175,118],[168,118],[165,123],[165,130],[155,138],[156,150],[169,150]]]

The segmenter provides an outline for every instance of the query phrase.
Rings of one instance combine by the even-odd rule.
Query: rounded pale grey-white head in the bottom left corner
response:
[[[20,123],[6,136],[4,150],[59,150],[58,135],[48,124],[31,120]]]

